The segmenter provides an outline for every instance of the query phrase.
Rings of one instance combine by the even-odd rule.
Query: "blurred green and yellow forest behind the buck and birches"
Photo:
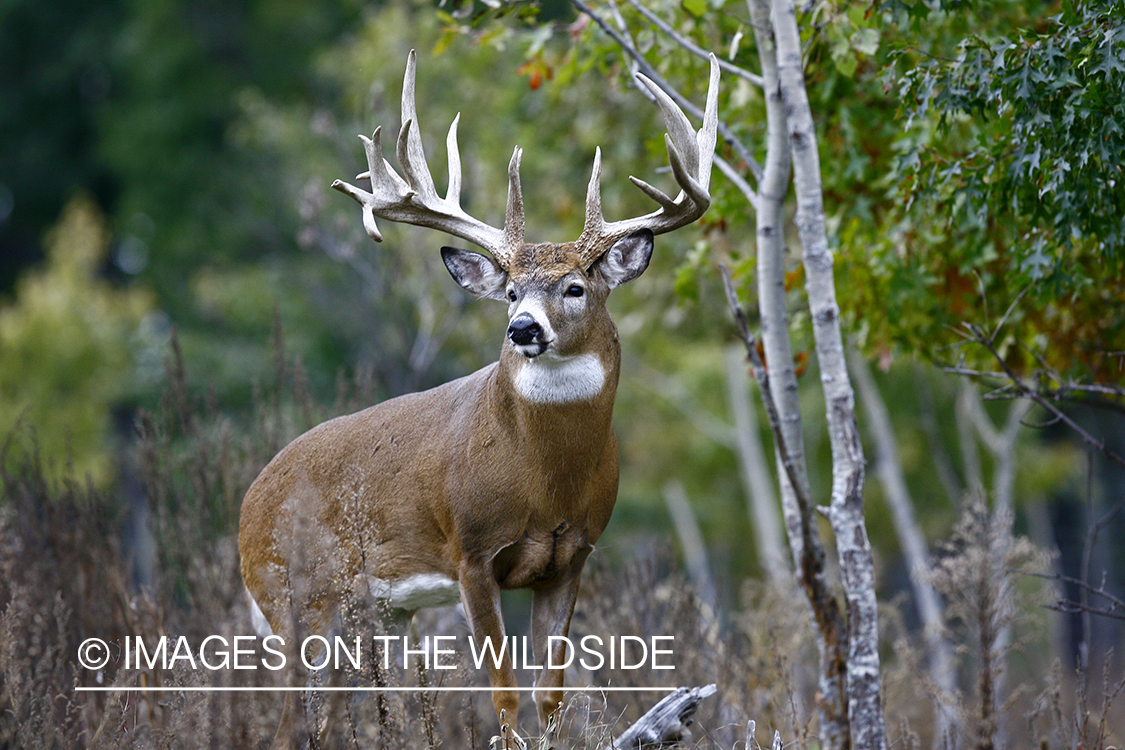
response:
[[[601,3],[701,102],[705,62],[619,6]],[[756,69],[745,3],[645,6]],[[955,557],[971,536],[966,518],[1000,508],[1028,545],[1020,564],[1047,577],[1011,579],[1019,616],[1002,644],[1014,649],[1004,692],[1023,690],[1024,703],[1009,712],[1009,737],[1024,737],[1024,724],[1040,737],[1028,716],[1035,706],[1050,713],[1043,696],[1055,689],[1096,695],[1095,707],[1109,707],[1095,711],[1109,721],[1102,741],[1120,743],[1120,705],[1102,703],[1101,689],[1104,666],[1105,685],[1120,680],[1125,617],[1125,466],[1115,461],[1125,455],[1125,6],[822,0],[800,15],[870,441],[884,658],[903,680],[888,693],[889,726],[909,735],[909,714],[915,731],[928,731],[902,687],[920,671],[904,656],[920,635],[902,524]],[[0,726],[37,716],[62,728],[57,744],[42,747],[92,746],[111,714],[130,731],[164,726],[161,747],[179,747],[169,739],[176,721],[151,707],[137,717],[136,706],[108,698],[28,696],[88,679],[70,656],[87,635],[244,626],[237,507],[273,452],[321,419],[496,358],[502,310],[450,281],[438,253],[448,238],[385,223],[376,245],[352,201],[328,190],[364,169],[357,133],[397,132],[411,48],[439,187],[444,133],[460,112],[462,205],[482,219],[502,223],[515,145],[525,150],[531,241],[577,236],[595,146],[611,219],[649,210],[629,174],[670,182],[654,177],[667,160],[658,110],[629,83],[616,45],[561,0],[0,4]],[[756,155],[764,107],[758,87],[724,74],[721,117]],[[719,153],[752,171],[722,141]],[[776,625],[793,616],[777,613],[800,618],[803,605],[763,593],[785,576],[781,527],[756,524],[752,503],[775,486],[755,482],[775,472],[762,458],[772,442],[717,271],[732,268],[753,310],[754,216],[718,170],[712,191],[706,217],[658,238],[650,269],[611,301],[624,356],[622,480],[595,580],[612,590],[613,571],[630,570],[667,585],[683,570],[693,616],[710,623],[701,632],[766,632],[764,621],[746,624],[755,607],[774,607],[765,611]],[[800,254],[790,262],[809,470],[825,497]],[[981,331],[996,333],[984,341]],[[1014,377],[1065,421],[1006,398],[1017,395]],[[892,495],[912,518],[896,517]],[[112,582],[91,582],[97,569]],[[605,599],[590,609],[614,616]],[[950,617],[953,630],[972,629]],[[771,632],[750,636],[738,663],[749,671],[756,658],[763,672],[791,675],[792,665],[747,656],[777,647]],[[716,638],[730,649],[738,641]],[[55,654],[50,670],[16,658],[28,644]],[[711,667],[677,680],[713,681]],[[966,695],[980,689],[972,674],[966,666]],[[731,701],[747,713],[716,722],[767,725],[772,711],[789,717],[778,729],[806,737],[789,683],[753,698],[760,686],[736,679],[746,693]],[[1058,704],[1073,708],[1074,698]],[[162,711],[188,726],[182,706]],[[226,711],[216,725],[237,744],[266,737]],[[16,726],[0,731],[0,746],[32,747]],[[1070,714],[1051,726],[1063,739],[1050,747],[1076,747]]]

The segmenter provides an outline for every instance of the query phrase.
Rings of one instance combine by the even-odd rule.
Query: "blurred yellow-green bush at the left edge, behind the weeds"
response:
[[[104,486],[114,476],[110,409],[130,395],[123,373],[153,300],[99,278],[107,234],[88,199],[66,206],[47,244],[46,266],[0,308],[0,434],[33,426],[45,457]]]

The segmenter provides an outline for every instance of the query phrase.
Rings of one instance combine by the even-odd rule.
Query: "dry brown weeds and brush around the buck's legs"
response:
[[[307,698],[309,725],[320,728],[315,747],[486,747],[497,731],[487,694],[425,689],[485,686],[467,650],[447,657],[450,669],[416,663],[404,669],[397,657],[385,668],[385,652],[371,639],[377,626],[362,606],[340,623],[346,643],[360,634],[371,645],[357,666],[345,662],[312,675],[273,670],[264,666],[274,658],[261,641],[248,641],[251,650],[240,661],[254,669],[192,663],[208,636],[222,639],[212,641],[215,662],[216,644],[231,647],[236,636],[253,634],[236,527],[242,495],[256,471],[330,413],[369,401],[370,388],[362,380],[341,381],[340,398],[322,408],[308,397],[299,368],[279,358],[278,382],[256,390],[253,409],[235,419],[190,394],[178,356],[168,376],[161,408],[136,418],[115,493],[68,477],[65,467],[44,467],[32,430],[18,431],[3,444],[0,748],[266,747],[281,712],[279,688],[309,684],[348,688]],[[883,696],[891,747],[1063,750],[1119,743],[1123,683],[1114,659],[1087,676],[1042,656],[1048,649],[1035,579],[1014,572],[1040,558],[1011,539],[1008,525],[998,530],[982,508],[966,505],[934,573],[951,603],[948,638],[960,649],[961,694],[938,695],[928,681],[921,639],[903,616],[908,604],[884,605]],[[668,546],[654,543],[654,549]],[[1023,557],[1002,558],[999,575],[981,576],[980,561],[998,553]],[[508,630],[520,635],[526,608],[512,609]],[[467,633],[456,608],[421,613],[414,629],[418,643]],[[660,642],[672,652],[664,663],[675,668],[630,669],[606,660],[588,669],[575,660],[566,684],[595,689],[567,693],[561,714],[567,747],[606,747],[663,696],[651,688],[714,684],[718,693],[695,715],[688,747],[734,749],[755,747],[755,741],[770,747],[780,731],[786,748],[817,748],[817,654],[810,629],[795,587],[782,591],[747,581],[738,602],[716,612],[666,553],[638,551],[624,560],[595,553],[572,641],[631,636],[651,644],[652,636],[673,636]],[[190,656],[181,654],[168,668],[126,663],[126,648],[136,657],[136,639],[152,649],[164,638],[172,656],[181,636]],[[80,663],[88,639],[108,645],[105,667]],[[534,670],[518,674],[526,686]],[[256,692],[194,689],[216,687]],[[416,689],[386,689],[396,687]],[[597,689],[610,687],[637,689]],[[933,738],[938,704],[952,706],[957,716],[957,737],[945,743]],[[757,737],[747,734],[750,721]],[[536,725],[526,694],[521,724]]]

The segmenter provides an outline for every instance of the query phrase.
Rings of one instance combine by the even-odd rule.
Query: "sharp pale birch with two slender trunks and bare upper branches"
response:
[[[627,20],[615,3],[574,6],[598,33],[618,45],[630,72],[641,72],[692,114],[685,97],[646,57],[636,34],[663,35],[681,52],[704,56],[709,51],[676,30],[665,13],[650,3],[629,0]],[[818,713],[825,748],[884,748],[885,726],[880,699],[879,631],[874,566],[864,522],[864,459],[855,418],[854,395],[845,364],[836,300],[832,252],[825,224],[820,163],[812,109],[806,90],[804,65],[796,12],[791,0],[749,0],[747,10],[757,40],[760,73],[726,63],[727,73],[760,87],[766,105],[764,168],[753,157],[730,120],[720,123],[723,147],[717,166],[756,215],[753,232],[757,246],[756,287],[759,299],[766,367],[753,370],[774,434],[781,476],[782,507],[796,577],[816,623],[819,651]],[[637,24],[637,26],[632,26]],[[728,161],[723,154],[730,154]],[[752,186],[757,181],[757,189]],[[796,231],[801,245],[807,304],[826,403],[826,422],[832,454],[828,503],[817,501],[809,482],[796,373],[790,340],[785,295],[785,206],[790,184],[796,202]],[[744,215],[748,215],[746,211]],[[737,296],[732,306],[740,309]],[[745,318],[744,318],[745,324]],[[752,361],[756,342],[744,326]],[[834,532],[842,573],[845,607],[827,573],[827,553],[816,524],[824,514]],[[846,611],[846,615],[845,615]]]

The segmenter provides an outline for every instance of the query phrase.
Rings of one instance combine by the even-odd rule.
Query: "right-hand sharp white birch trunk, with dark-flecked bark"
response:
[[[796,226],[804,260],[817,361],[832,453],[832,495],[827,515],[836,533],[848,611],[847,698],[850,746],[883,750],[886,729],[880,699],[879,614],[875,571],[863,512],[863,445],[855,398],[844,360],[832,254],[825,227],[820,159],[804,88],[801,37],[792,0],[773,2],[777,73],[793,159]]]

